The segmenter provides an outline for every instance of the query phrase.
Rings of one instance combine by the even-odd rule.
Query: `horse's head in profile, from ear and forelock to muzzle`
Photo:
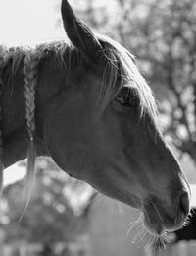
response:
[[[48,106],[44,140],[56,163],[143,213],[154,236],[182,226],[190,190],[157,125],[154,96],[119,43],[96,35],[62,1],[75,56]]]

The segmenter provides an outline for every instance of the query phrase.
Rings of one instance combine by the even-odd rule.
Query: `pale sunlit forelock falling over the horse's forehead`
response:
[[[99,38],[104,45],[104,54],[108,60],[103,80],[103,87],[107,89],[100,107],[101,112],[124,86],[130,89],[136,88],[140,102],[140,117],[145,117],[145,113],[148,113],[157,126],[156,100],[135,64],[135,57],[110,37],[99,35]],[[121,79],[118,83],[119,78]]]

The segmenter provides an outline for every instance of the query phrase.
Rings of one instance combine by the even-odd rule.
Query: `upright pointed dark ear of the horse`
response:
[[[100,54],[102,46],[96,35],[73,13],[67,0],[62,0],[61,6],[64,28],[72,41],[84,55],[95,58]]]

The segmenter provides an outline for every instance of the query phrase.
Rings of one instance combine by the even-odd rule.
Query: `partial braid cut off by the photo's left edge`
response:
[[[4,67],[4,57],[0,56],[0,102],[3,91],[3,80],[2,80],[2,71]],[[0,196],[3,191],[3,139],[2,139],[2,119],[3,119],[3,110],[2,104],[0,104]]]

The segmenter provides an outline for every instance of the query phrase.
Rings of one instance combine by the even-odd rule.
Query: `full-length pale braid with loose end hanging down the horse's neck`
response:
[[[27,174],[26,174],[26,189],[27,201],[25,209],[29,203],[29,198],[35,177],[35,158],[36,150],[34,145],[35,135],[35,87],[37,84],[39,57],[37,52],[28,51],[25,56],[25,118],[27,122],[28,134],[28,151],[27,151]]]

